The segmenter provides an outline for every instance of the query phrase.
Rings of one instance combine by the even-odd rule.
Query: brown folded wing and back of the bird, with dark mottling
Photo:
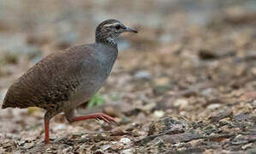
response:
[[[9,87],[2,108],[47,109],[68,100],[80,84],[81,62],[91,51],[88,45],[79,45],[46,56]]]

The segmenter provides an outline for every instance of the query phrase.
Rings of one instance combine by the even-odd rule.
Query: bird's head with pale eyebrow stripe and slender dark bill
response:
[[[137,33],[137,30],[131,27],[125,27],[117,20],[107,20],[101,22],[96,28],[96,42],[116,45],[116,39],[121,33]]]

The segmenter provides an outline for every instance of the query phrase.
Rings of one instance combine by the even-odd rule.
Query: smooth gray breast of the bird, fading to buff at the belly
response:
[[[92,44],[91,47],[93,49],[91,58],[85,58],[82,62],[81,85],[71,96],[72,103],[69,108],[75,108],[91,98],[107,80],[116,61],[118,55],[116,48],[105,44]]]

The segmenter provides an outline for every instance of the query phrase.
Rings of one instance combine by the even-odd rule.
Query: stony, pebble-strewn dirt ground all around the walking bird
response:
[[[101,21],[139,30],[99,96],[117,125],[0,110],[0,153],[256,153],[256,1],[0,0],[0,106],[42,57],[94,42]]]

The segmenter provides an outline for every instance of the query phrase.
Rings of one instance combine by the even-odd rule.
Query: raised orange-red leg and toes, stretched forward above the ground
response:
[[[103,113],[94,113],[94,114],[85,115],[85,116],[76,116],[72,118],[72,121],[85,121],[88,119],[96,119],[98,121],[102,120],[102,121],[106,121],[107,123],[111,123],[111,122],[116,123],[113,117]]]

